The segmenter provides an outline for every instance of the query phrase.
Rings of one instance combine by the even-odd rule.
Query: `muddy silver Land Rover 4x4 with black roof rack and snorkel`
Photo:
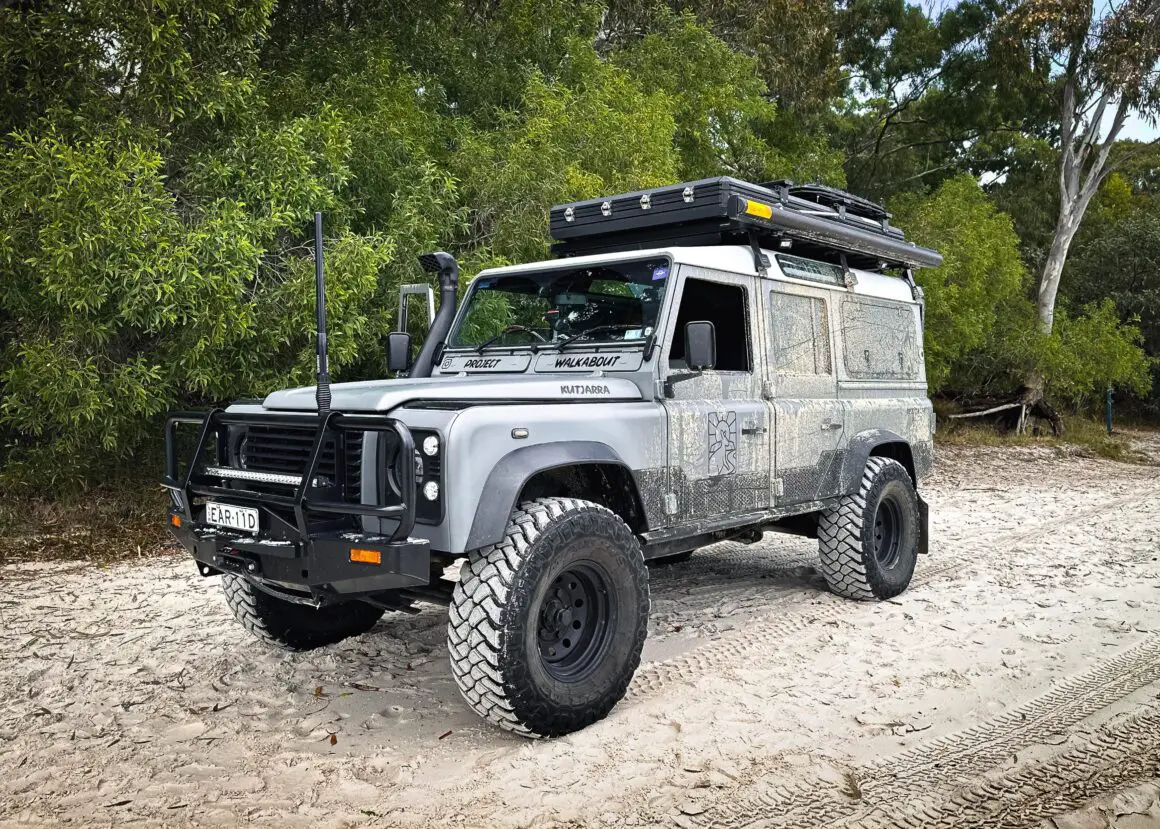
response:
[[[246,628],[305,649],[447,604],[463,696],[527,735],[624,696],[650,559],[777,530],[818,539],[836,594],[905,590],[933,460],[912,269],[941,257],[880,208],[723,177],[551,227],[556,259],[458,307],[455,261],[422,257],[441,308],[413,361],[389,336],[400,377],[329,386],[320,301],[317,386],[166,430],[172,531]]]

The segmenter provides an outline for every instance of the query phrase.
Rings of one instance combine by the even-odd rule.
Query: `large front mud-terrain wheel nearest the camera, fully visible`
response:
[[[632,531],[600,504],[537,499],[463,566],[448,623],[451,672],[480,717],[560,736],[624,697],[647,627],[648,573]]]

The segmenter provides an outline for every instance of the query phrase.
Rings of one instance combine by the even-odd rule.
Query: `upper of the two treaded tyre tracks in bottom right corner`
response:
[[[856,783],[861,793],[857,799],[850,797],[849,788],[842,791],[817,780],[778,783],[760,776],[753,779],[756,771],[753,770],[749,775],[753,781],[746,786],[749,792],[727,791],[705,803],[708,808],[702,815],[686,822],[705,829],[753,824],[820,827],[843,820],[862,826],[862,819],[869,820],[877,810],[887,807],[893,819],[897,805],[923,793],[945,791],[951,786],[974,791],[983,785],[979,783],[983,775],[1008,762],[1017,751],[1043,744],[1132,692],[1155,683],[1160,683],[1160,635],[1151,635],[1056,684],[1046,693],[979,725],[929,740],[883,761],[850,769],[848,779]],[[1150,712],[1150,715],[1160,715],[1154,706]],[[1160,733],[1155,735],[1154,743],[1160,743]],[[1104,744],[1107,740],[1099,743],[1101,747]],[[1012,776],[1017,773],[1022,772],[1010,772]],[[940,802],[928,800],[922,814],[928,815],[930,808],[937,812],[942,808]],[[934,819],[928,815],[923,820]],[[883,826],[893,824],[887,822]]]

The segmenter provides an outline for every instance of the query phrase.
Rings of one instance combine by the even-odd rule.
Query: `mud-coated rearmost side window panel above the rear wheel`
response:
[[[914,308],[868,299],[842,300],[846,371],[860,380],[918,380],[922,350]]]

